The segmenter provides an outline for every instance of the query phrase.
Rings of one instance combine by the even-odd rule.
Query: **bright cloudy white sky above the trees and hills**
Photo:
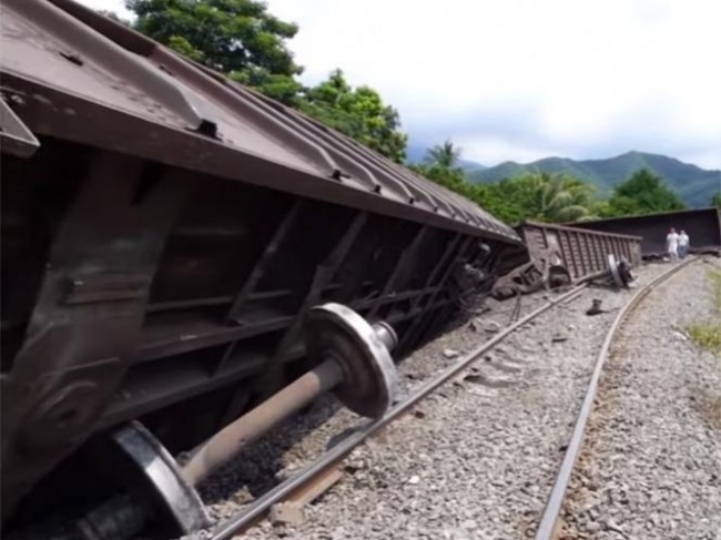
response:
[[[123,0],[81,0],[119,14]],[[341,68],[410,143],[485,165],[630,150],[721,169],[719,0],[267,0],[317,82]]]

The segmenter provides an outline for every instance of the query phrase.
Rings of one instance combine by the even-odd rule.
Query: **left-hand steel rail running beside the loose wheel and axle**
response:
[[[539,316],[544,312],[550,309],[551,307],[555,307],[570,299],[575,299],[576,296],[578,296],[587,287],[587,285],[588,284],[581,284],[573,287],[567,293],[563,293],[558,298],[555,298],[548,302],[547,304],[544,304],[542,306],[529,313],[518,322],[502,329],[491,339],[484,342],[477,348],[475,348],[466,356],[460,358],[451,367],[444,370],[436,377],[433,377],[414,394],[409,395],[406,399],[393,406],[384,417],[379,418],[378,420],[374,420],[370,424],[367,424],[358,431],[349,435],[341,442],[338,442],[335,447],[333,447],[331,450],[328,450],[326,454],[324,454],[318,459],[316,459],[314,462],[304,467],[299,472],[292,476],[287,480],[278,483],[275,488],[267,491],[262,497],[260,497],[258,499],[250,503],[236,516],[232,517],[224,523],[217,526],[212,531],[212,537],[211,537],[212,540],[232,539],[238,530],[252,524],[254,521],[262,518],[263,514],[267,510],[270,510],[270,508],[273,505],[283,501],[288,496],[291,496],[294,491],[296,491],[298,488],[303,487],[306,482],[314,479],[317,475],[322,473],[329,467],[333,467],[334,465],[339,462],[355,447],[360,445],[365,439],[367,439],[376,431],[390,424],[393,420],[400,417],[404,412],[410,409],[418,401],[420,401],[426,396],[431,394],[434,390],[436,390],[437,388],[446,384],[448,380],[456,377],[460,371],[463,371],[469,365],[475,363],[483,354],[485,354],[486,351],[495,347],[498,343],[505,339],[509,334],[514,333],[517,328],[525,325],[532,318]]]

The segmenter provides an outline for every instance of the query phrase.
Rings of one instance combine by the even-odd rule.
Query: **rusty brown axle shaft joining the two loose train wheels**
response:
[[[197,486],[244,447],[342,380],[341,365],[325,360],[205,441],[183,467],[185,480]]]

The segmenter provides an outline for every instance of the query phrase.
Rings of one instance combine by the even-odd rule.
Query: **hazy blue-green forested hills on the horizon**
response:
[[[711,197],[719,191],[721,171],[707,171],[673,157],[643,152],[628,152],[608,160],[576,161],[566,157],[546,157],[526,164],[505,162],[492,167],[471,171],[468,173],[468,180],[495,182],[532,171],[567,173],[590,182],[605,194],[639,169],[649,169],[663,177],[667,185],[692,207],[708,206]]]

